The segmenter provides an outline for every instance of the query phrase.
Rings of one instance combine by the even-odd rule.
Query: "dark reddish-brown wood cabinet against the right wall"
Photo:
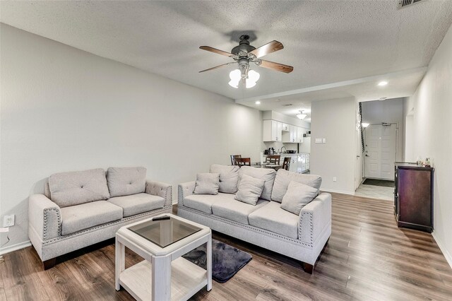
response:
[[[394,213],[398,227],[433,231],[432,167],[396,163]]]

